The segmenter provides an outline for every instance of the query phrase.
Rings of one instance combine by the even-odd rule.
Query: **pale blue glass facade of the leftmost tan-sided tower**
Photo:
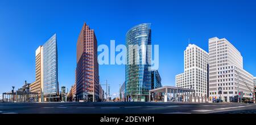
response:
[[[56,34],[43,45],[43,94],[48,101],[59,95]]]

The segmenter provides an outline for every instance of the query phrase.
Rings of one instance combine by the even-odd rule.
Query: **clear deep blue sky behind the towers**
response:
[[[256,75],[254,1],[0,1],[0,93],[35,81],[35,50],[54,33],[59,56],[59,86],[75,82],[76,42],[82,24],[94,29],[98,45],[125,44],[134,25],[151,23],[152,44],[159,45],[163,85],[175,85],[183,72],[183,51],[192,44],[208,51],[208,38],[228,39]],[[100,66],[100,81],[111,93],[125,81],[125,66]],[[105,87],[104,87],[105,88]]]

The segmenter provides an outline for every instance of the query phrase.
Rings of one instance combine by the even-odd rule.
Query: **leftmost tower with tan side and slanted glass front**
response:
[[[43,46],[36,49],[36,80],[30,85],[30,89],[31,92],[39,93],[39,101],[59,100],[57,72],[57,41],[55,34]]]

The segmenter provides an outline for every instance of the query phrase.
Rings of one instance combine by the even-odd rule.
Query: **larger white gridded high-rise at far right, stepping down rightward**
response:
[[[243,57],[226,38],[209,38],[209,96],[237,102],[253,96],[253,75],[243,70]]]

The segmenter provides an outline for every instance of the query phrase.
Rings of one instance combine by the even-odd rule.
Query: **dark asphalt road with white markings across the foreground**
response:
[[[208,114],[256,113],[256,104],[179,102],[0,103],[0,114]]]

